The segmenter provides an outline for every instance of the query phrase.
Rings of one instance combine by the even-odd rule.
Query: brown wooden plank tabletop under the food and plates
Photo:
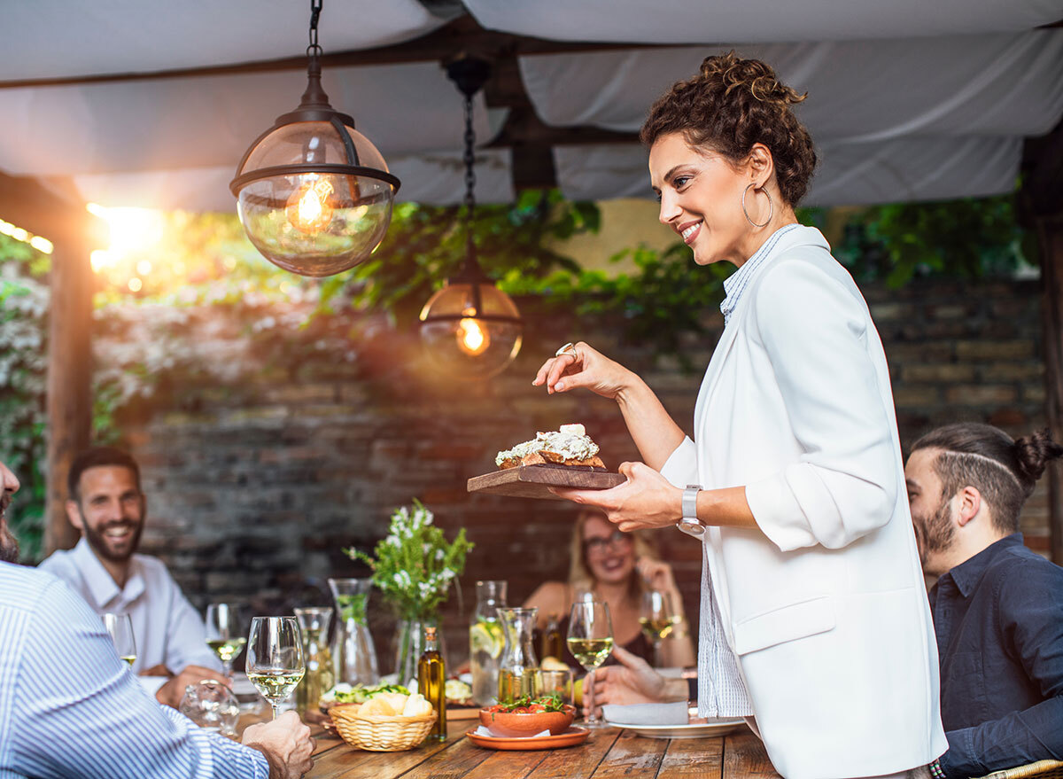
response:
[[[466,736],[475,724],[449,723],[445,742],[404,752],[367,752],[319,734],[307,779],[779,779],[748,730],[715,739],[646,739],[595,730],[579,746],[539,751],[482,749]]]

